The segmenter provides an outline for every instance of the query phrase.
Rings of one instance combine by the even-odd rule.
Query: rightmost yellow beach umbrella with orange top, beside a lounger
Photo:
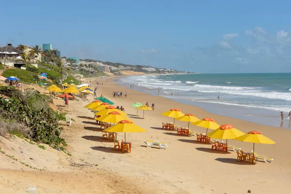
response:
[[[241,142],[249,142],[249,143],[253,143],[253,158],[254,158],[254,154],[255,154],[255,143],[256,144],[275,144],[275,142],[269,138],[267,138],[266,136],[264,136],[261,132],[253,130],[253,131],[249,131],[248,133],[239,136],[237,138],[235,138],[234,140],[238,140]],[[254,161],[253,161],[254,163]]]

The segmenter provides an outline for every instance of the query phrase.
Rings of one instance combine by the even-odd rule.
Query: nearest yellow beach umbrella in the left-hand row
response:
[[[121,120],[116,125],[113,125],[110,128],[104,129],[105,132],[120,132],[124,133],[124,141],[126,142],[126,133],[139,133],[146,132],[146,129],[143,129],[129,120]]]

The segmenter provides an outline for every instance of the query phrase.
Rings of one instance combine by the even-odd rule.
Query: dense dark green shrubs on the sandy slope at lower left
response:
[[[58,113],[48,106],[45,95],[33,90],[23,94],[12,86],[0,86],[0,94],[10,97],[9,102],[0,98],[1,117],[13,117],[30,129],[27,134],[22,133],[24,137],[52,147],[66,146],[65,140],[60,137],[63,128],[60,127]],[[35,101],[41,106],[34,106]]]

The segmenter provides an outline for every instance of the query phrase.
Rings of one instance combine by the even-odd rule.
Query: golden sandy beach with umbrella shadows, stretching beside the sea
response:
[[[32,170],[3,155],[0,158],[1,192],[24,193],[28,184],[35,185],[37,193],[49,194],[244,194],[248,190],[255,194],[274,194],[291,190],[290,130],[208,113],[199,107],[152,96],[106,80],[92,79],[89,84],[95,87],[96,81],[103,82],[97,96],[102,94],[114,102],[113,106],[123,106],[129,118],[147,130],[127,134],[127,141],[132,144],[131,153],[114,151],[113,143],[101,138],[101,130],[93,119],[94,113],[82,108],[92,101],[93,96],[89,97],[89,101],[70,101],[68,109],[63,100],[54,99],[54,105],[74,119],[72,126],[64,126],[62,132],[68,144],[67,151],[72,156],[49,146],[46,150],[39,150],[35,146],[29,148],[28,143],[21,139],[1,138],[2,150],[7,154],[23,157],[32,166],[46,170]],[[47,93],[44,88],[40,90]],[[127,92],[128,97],[113,97],[113,91]],[[145,119],[142,119],[142,111],[136,116],[136,109],[130,104],[146,104],[147,101],[155,103],[155,110],[145,112]],[[272,157],[274,161],[257,162],[256,165],[237,162],[234,151],[211,151],[211,145],[197,143],[195,136],[178,136],[177,131],[161,129],[162,122],[173,122],[172,118],[161,115],[171,108],[192,113],[200,119],[211,117],[220,125],[231,124],[243,132],[262,132],[276,144],[257,144],[256,152]],[[65,125],[65,122],[62,123]],[[181,121],[175,124],[188,125]],[[206,129],[193,125],[190,129],[206,132]],[[124,134],[118,134],[117,139],[124,140]],[[168,147],[165,150],[147,148],[144,140],[160,140]],[[23,145],[19,146],[21,149],[17,148],[20,144]],[[251,143],[229,140],[228,144],[241,147],[245,152],[253,149]],[[27,156],[20,153],[23,147],[27,149],[23,151]]]

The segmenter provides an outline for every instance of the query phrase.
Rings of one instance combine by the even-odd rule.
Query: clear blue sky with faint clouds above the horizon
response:
[[[195,72],[291,72],[291,1],[1,2],[0,45]],[[129,62],[130,60],[130,62]]]

